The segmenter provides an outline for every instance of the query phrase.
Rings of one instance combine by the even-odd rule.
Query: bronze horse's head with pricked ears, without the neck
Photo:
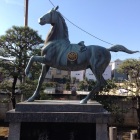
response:
[[[50,10],[47,14],[43,15],[38,19],[38,22],[40,25],[45,25],[45,24],[55,24],[57,22],[59,12],[57,11],[59,7],[55,7],[52,10]]]

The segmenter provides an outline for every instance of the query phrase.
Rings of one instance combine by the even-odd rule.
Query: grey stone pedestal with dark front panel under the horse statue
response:
[[[108,140],[109,116],[96,101],[21,102],[6,114],[8,140]]]

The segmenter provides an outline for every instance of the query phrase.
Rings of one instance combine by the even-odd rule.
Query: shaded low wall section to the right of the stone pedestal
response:
[[[112,106],[115,105],[117,110],[119,110],[116,114],[112,115],[110,119],[110,125],[124,125],[124,126],[137,126],[137,112],[136,112],[136,98],[133,99],[126,99],[126,96],[111,96],[111,95],[100,95],[102,100],[107,99],[107,101],[112,102]],[[117,121],[115,119],[117,118]],[[118,121],[119,120],[119,121]]]

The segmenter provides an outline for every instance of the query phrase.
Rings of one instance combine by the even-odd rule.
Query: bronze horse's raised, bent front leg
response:
[[[25,69],[25,75],[28,76],[29,78],[32,77],[32,75],[29,71],[30,71],[30,68],[31,68],[31,66],[34,62],[40,62],[40,63],[45,64],[45,57],[43,57],[43,56],[32,56],[30,58],[27,66],[26,66],[26,69]]]

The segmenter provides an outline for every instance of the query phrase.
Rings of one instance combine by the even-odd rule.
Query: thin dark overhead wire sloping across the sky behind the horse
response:
[[[53,4],[53,2],[51,0],[49,0],[49,2],[52,4],[53,7],[55,7],[55,5]],[[66,18],[64,15],[62,15],[64,17],[64,19],[66,19],[68,22],[70,22],[73,26],[75,26],[76,28],[80,29],[81,31],[85,32],[86,34],[92,36],[93,38],[96,38],[104,43],[107,43],[107,44],[110,44],[110,45],[113,45],[112,43],[108,42],[108,41],[105,41],[103,39],[100,39],[98,37],[96,37],[95,35],[87,32],[86,30],[82,29],[81,27],[79,27],[78,25],[74,24],[73,22],[71,22],[68,18]]]

